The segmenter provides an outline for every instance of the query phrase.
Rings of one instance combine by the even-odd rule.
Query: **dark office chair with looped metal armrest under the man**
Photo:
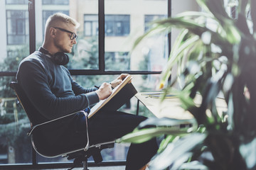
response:
[[[68,160],[74,159],[74,166],[70,169],[75,168],[80,164],[83,164],[83,170],[87,169],[87,159],[93,157],[95,163],[102,162],[102,155],[100,151],[102,149],[114,147],[114,141],[105,142],[97,145],[89,145],[89,137],[87,130],[87,113],[85,111],[79,111],[76,113],[71,113],[70,115],[65,115],[61,118],[55,120],[47,120],[43,117],[36,108],[31,104],[25,92],[17,82],[11,82],[11,89],[14,89],[19,103],[23,107],[28,119],[31,123],[31,130],[28,132],[28,136],[31,137],[31,143],[33,148],[38,154],[41,154],[43,157],[67,157]],[[82,132],[81,135],[85,135],[84,142],[74,145],[74,142],[61,142],[61,141],[70,141],[72,140],[72,135],[65,135],[67,128],[62,130],[65,127],[65,123],[68,123],[71,118],[77,113],[82,112],[85,114],[86,118],[86,135],[85,132]],[[63,131],[63,133],[60,133]],[[80,134],[74,134],[80,135]],[[53,142],[55,141],[55,142]],[[58,142],[56,142],[58,141]]]

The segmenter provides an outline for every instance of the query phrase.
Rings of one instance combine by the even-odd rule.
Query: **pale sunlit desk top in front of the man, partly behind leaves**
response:
[[[153,113],[156,118],[175,118],[180,120],[185,119],[192,119],[193,115],[185,111],[181,108],[181,101],[177,97],[173,98],[165,98],[164,101],[161,101],[159,98],[152,98],[146,94],[159,94],[159,92],[144,92],[144,93],[137,93],[135,97],[138,99],[138,107],[139,101],[146,106],[146,108]],[[202,97],[200,95],[196,95],[194,102],[197,106],[200,106],[202,101]],[[220,115],[223,111],[227,111],[227,105],[223,98],[216,99],[216,106],[218,114]],[[138,108],[137,108],[137,111]]]

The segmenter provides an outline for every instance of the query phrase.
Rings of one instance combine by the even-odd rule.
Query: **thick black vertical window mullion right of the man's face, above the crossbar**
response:
[[[99,6],[99,69],[105,72],[105,0],[98,0]]]

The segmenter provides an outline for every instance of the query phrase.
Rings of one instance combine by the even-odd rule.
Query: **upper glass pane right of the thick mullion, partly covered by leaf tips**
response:
[[[167,17],[166,6],[167,0],[122,1],[122,3],[105,1],[105,69],[107,71],[161,71],[164,68],[168,58],[165,35],[146,38],[133,52],[131,49],[134,40],[149,29],[151,21]],[[129,55],[120,57],[120,54],[127,53]]]

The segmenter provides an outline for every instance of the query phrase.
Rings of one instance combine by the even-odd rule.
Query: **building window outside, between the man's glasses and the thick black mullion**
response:
[[[97,15],[84,16],[84,34],[85,36],[98,35],[99,24]]]

